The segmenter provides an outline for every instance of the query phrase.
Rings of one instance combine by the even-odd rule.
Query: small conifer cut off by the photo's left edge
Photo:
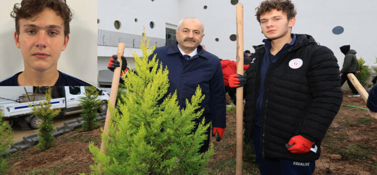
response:
[[[11,125],[3,121],[3,115],[0,111],[0,153],[6,151],[9,148],[13,140],[13,131]],[[0,174],[7,174],[9,168],[7,168],[6,156],[0,155]]]

